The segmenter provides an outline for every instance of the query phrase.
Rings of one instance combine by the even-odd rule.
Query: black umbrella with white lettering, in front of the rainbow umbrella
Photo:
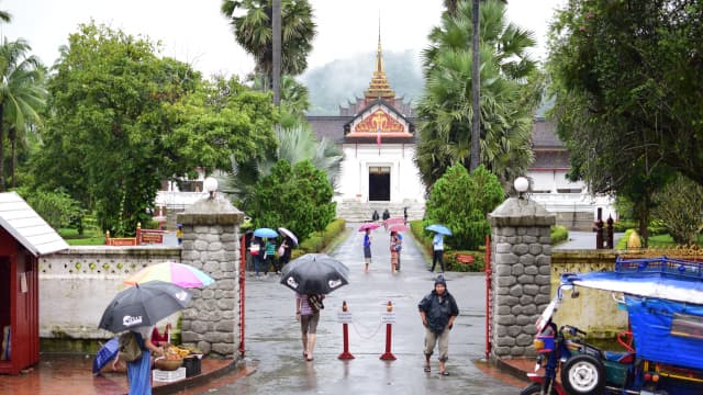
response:
[[[136,284],[114,296],[98,327],[116,334],[152,326],[186,308],[191,297],[190,291],[164,281]]]

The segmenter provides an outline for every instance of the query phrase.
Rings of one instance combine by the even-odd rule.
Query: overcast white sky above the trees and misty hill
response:
[[[146,35],[163,43],[161,54],[187,61],[205,76],[236,74],[253,68],[252,58],[234,42],[221,0],[0,0],[0,9],[12,14],[3,24],[9,40],[23,37],[42,61],[53,65],[58,47],[79,23],[93,19],[130,34]],[[535,32],[544,56],[547,23],[563,0],[510,0],[511,21]],[[376,50],[381,18],[383,50],[420,50],[427,33],[438,24],[442,0],[311,0],[317,36],[310,67]]]

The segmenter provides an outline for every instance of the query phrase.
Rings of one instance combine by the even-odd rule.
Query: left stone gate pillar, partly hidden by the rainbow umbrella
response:
[[[202,199],[177,215],[182,224],[181,262],[215,280],[194,289],[183,311],[181,336],[204,353],[233,358],[239,345],[239,224],[244,214],[226,199]]]

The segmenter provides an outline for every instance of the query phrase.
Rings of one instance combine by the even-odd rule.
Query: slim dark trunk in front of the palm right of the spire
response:
[[[481,162],[481,105],[480,105],[480,97],[481,97],[481,76],[479,74],[479,66],[481,61],[480,57],[480,44],[479,37],[481,34],[480,31],[480,15],[479,15],[479,2],[480,0],[473,0],[473,7],[471,9],[471,20],[473,23],[473,36],[471,37],[471,50],[472,50],[472,61],[471,65],[471,110],[473,111],[473,117],[471,120],[471,167],[470,171],[473,171],[479,167]]]

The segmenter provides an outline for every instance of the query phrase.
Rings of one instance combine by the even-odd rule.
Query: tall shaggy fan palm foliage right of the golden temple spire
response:
[[[532,122],[543,78],[526,50],[532,33],[507,23],[505,5],[481,3],[481,162],[503,182],[524,173],[533,160]],[[449,166],[470,167],[471,151],[471,1],[445,12],[423,53],[425,93],[417,106],[423,119],[416,162],[432,185]]]

